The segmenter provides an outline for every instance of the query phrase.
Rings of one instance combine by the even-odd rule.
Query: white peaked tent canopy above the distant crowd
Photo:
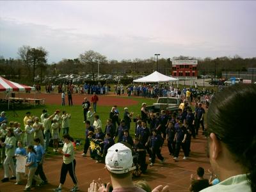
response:
[[[133,80],[135,83],[160,83],[160,82],[173,82],[173,81],[179,81],[179,79],[164,76],[163,74],[155,71],[152,74],[142,77],[140,79]]]

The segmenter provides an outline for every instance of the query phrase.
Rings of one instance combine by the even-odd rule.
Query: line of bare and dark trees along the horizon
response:
[[[92,50],[85,51],[77,58],[63,59],[58,63],[47,63],[47,52],[43,47],[30,47],[23,45],[17,51],[17,58],[4,58],[0,56],[0,75],[12,81],[21,83],[42,83],[42,79],[49,75],[58,74],[91,74],[95,79],[98,65],[100,74],[127,74],[147,75],[158,65],[158,72],[170,76],[172,74],[172,60],[170,58],[148,58],[141,60],[108,60],[106,56]],[[186,60],[188,57],[179,56],[175,59]],[[219,58],[189,58],[198,60],[199,74],[217,74],[221,76],[223,71],[246,71],[247,68],[256,67],[256,57],[241,58],[234,57]]]

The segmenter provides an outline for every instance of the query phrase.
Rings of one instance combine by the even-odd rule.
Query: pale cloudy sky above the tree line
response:
[[[0,1],[0,56],[44,47],[48,63],[256,56],[256,1]]]

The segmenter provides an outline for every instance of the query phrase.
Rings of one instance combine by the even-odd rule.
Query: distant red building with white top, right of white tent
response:
[[[173,60],[172,76],[178,79],[197,79],[197,60]]]

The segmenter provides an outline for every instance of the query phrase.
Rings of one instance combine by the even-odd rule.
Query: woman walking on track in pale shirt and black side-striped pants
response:
[[[61,191],[61,188],[66,180],[67,173],[69,173],[70,177],[73,180],[74,187],[70,189],[70,191],[79,191],[77,188],[77,179],[76,179],[76,159],[74,154],[74,146],[72,145],[72,138],[69,134],[63,134],[64,146],[62,150],[58,152],[63,155],[63,163],[61,166],[60,172],[60,184],[58,188],[54,189],[54,191]]]

